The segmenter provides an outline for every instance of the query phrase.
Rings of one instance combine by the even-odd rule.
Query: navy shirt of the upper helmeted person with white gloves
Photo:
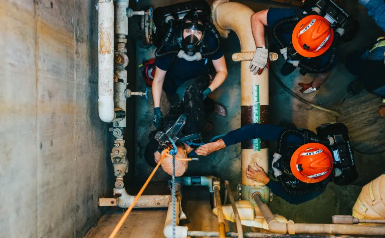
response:
[[[289,17],[295,17],[295,11],[297,9],[283,9],[283,8],[270,8],[269,11],[267,12],[267,26],[269,28],[273,28],[274,24],[277,23],[278,21],[289,18]],[[293,26],[294,29],[294,26]],[[283,39],[286,44],[289,44],[291,42],[291,36],[293,34],[293,31],[290,32],[285,32],[283,33]],[[275,45],[279,45],[276,43],[276,41],[273,41]],[[324,67],[329,63],[331,56],[331,47],[321,56],[314,57],[314,58],[304,58],[301,60],[304,63],[310,63],[310,65],[316,64],[318,67]],[[336,57],[336,61],[334,61],[334,64],[330,67],[328,71],[332,71],[335,66],[337,65],[338,61],[338,55]]]

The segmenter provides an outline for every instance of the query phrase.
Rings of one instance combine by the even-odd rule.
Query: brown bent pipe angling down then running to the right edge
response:
[[[349,234],[349,235],[385,235],[383,225],[353,225],[353,224],[301,224],[289,221],[281,223],[275,219],[270,208],[261,201],[258,194],[253,194],[269,230],[276,233],[291,234]]]

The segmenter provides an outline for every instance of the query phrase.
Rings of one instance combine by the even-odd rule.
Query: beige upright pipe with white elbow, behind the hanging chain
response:
[[[182,202],[182,193],[181,190],[181,182],[176,181],[175,183],[175,195],[176,195],[176,202],[175,202],[175,214],[176,214],[176,220],[175,220],[175,235],[173,235],[173,229],[172,229],[172,202],[171,199],[168,203],[168,210],[166,215],[166,220],[164,222],[164,229],[163,229],[163,235],[166,238],[187,238],[187,226],[179,226],[179,219],[185,219],[186,216],[184,215],[182,208],[180,206]]]

